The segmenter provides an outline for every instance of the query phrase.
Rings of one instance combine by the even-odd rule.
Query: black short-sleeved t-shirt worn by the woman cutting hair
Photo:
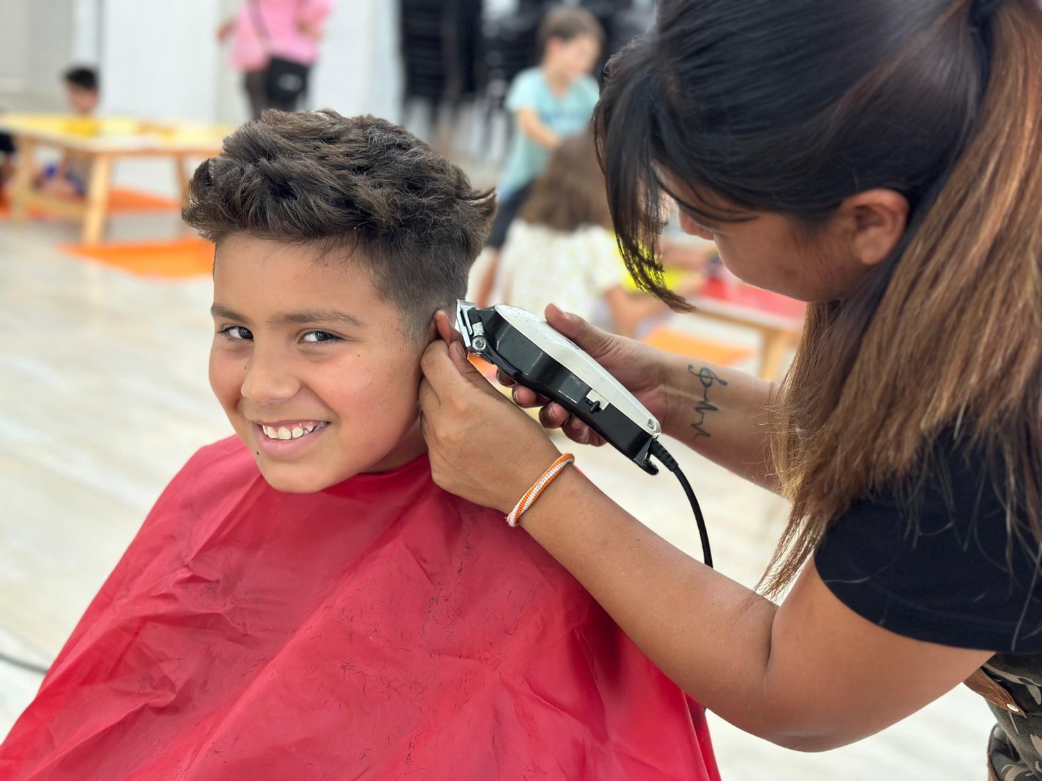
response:
[[[949,437],[935,451],[926,475],[857,502],[825,533],[818,574],[847,607],[897,634],[1042,653],[1042,549],[1022,518],[1007,518],[979,453]]]

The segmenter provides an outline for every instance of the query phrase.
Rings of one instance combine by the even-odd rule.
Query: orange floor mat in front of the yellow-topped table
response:
[[[110,242],[61,245],[74,257],[97,260],[131,274],[178,279],[209,276],[214,270],[214,245],[202,238],[168,242]]]

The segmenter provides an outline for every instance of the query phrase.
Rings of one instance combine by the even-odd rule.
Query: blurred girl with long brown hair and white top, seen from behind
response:
[[[589,131],[557,147],[491,273],[504,303],[542,312],[553,302],[627,336],[643,321],[668,311],[659,299],[627,287]]]

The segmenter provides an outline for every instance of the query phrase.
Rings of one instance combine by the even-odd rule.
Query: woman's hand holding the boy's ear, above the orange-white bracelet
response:
[[[430,473],[445,490],[505,514],[560,453],[467,360],[444,312],[436,323],[442,338],[420,360],[420,423]]]

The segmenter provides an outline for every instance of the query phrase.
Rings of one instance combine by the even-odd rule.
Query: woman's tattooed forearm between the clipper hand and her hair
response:
[[[667,361],[665,433],[777,490],[768,433],[778,386],[708,361],[672,356]]]

